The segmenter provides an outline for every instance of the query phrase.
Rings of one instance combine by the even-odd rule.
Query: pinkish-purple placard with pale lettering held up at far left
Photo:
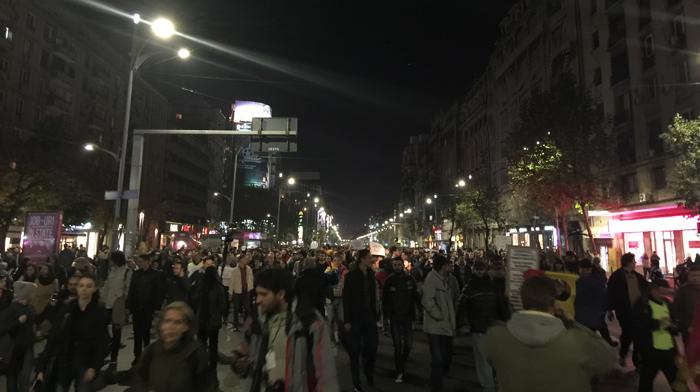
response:
[[[61,242],[61,211],[28,212],[24,220],[24,256],[32,263],[45,263],[58,254]]]

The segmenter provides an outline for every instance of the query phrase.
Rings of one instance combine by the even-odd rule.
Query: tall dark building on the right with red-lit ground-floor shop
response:
[[[697,217],[686,218],[689,212],[677,207],[670,188],[674,157],[660,139],[676,113],[693,118],[699,113],[694,82],[700,43],[694,38],[700,38],[700,26],[689,23],[699,16],[700,4],[689,0],[520,1],[501,21],[482,76],[433,122],[426,147],[432,164],[424,171],[440,179],[411,177],[420,183],[410,199],[402,197],[402,207],[422,208],[421,200],[449,193],[456,178],[470,175],[508,194],[506,137],[517,129],[522,104],[533,92],[548,90],[567,72],[610,119],[615,141],[610,157],[615,169],[601,173],[615,187],[591,217],[593,251],[613,264],[623,252],[657,252],[662,268],[671,271],[700,251]],[[404,157],[414,149],[410,144]],[[405,159],[404,166],[405,175],[415,167]],[[510,195],[503,200],[508,241],[553,246],[561,235],[556,225]],[[580,219],[572,211],[566,224],[575,230]]]

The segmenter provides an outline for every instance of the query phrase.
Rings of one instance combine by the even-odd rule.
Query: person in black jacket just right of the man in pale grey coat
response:
[[[459,299],[458,314],[466,314],[472,334],[474,363],[479,384],[485,392],[495,392],[496,382],[493,369],[486,361],[484,342],[486,330],[494,321],[507,321],[510,317],[508,299],[486,273],[486,264],[479,260],[474,263],[472,276],[464,287]],[[458,320],[461,320],[458,315]]]

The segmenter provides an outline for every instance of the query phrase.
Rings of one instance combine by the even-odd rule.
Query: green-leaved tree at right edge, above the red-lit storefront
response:
[[[668,131],[661,135],[678,154],[672,187],[683,206],[700,213],[700,119],[687,120],[676,114]]]

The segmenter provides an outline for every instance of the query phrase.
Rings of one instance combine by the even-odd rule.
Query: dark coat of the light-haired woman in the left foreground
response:
[[[207,351],[190,338],[171,348],[161,340],[146,347],[132,370],[134,392],[215,392],[216,375],[209,366]]]

